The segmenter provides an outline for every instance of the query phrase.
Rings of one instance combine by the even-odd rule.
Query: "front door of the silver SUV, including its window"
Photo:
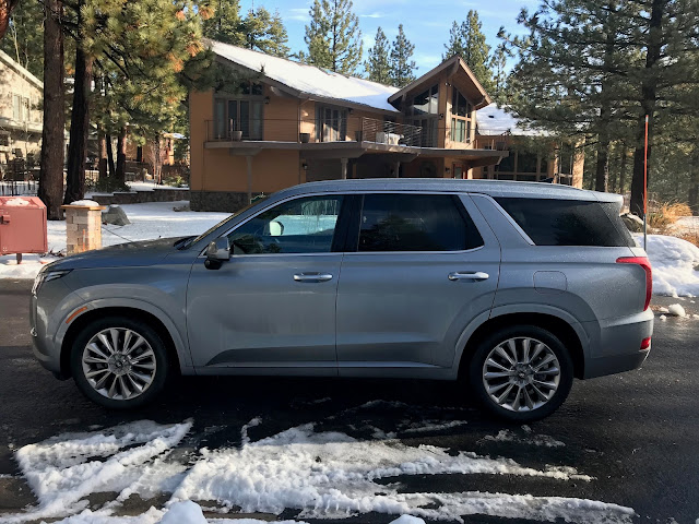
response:
[[[196,367],[319,368],[336,374],[341,195],[276,204],[228,234],[229,261],[192,267],[187,329]]]

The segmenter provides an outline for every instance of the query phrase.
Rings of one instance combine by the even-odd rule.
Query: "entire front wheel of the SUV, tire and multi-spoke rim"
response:
[[[110,408],[150,402],[165,385],[165,344],[147,324],[123,317],[90,323],[78,335],[71,371],[82,393]]]

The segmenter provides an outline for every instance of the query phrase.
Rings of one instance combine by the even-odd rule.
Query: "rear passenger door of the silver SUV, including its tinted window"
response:
[[[497,288],[500,248],[485,219],[455,194],[370,193],[356,211],[337,290],[340,374],[451,366]]]

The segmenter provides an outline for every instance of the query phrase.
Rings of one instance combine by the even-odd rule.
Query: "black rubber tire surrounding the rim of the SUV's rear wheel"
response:
[[[484,367],[486,359],[496,347],[512,338],[532,338],[534,341],[538,341],[548,346],[558,360],[559,376],[558,386],[555,390],[555,393],[543,405],[532,409],[513,410],[512,406],[509,408],[503,407],[491,398],[486,389],[486,384],[484,383]],[[568,393],[570,393],[572,379],[573,365],[569,352],[555,334],[535,325],[512,325],[510,327],[498,330],[496,333],[486,336],[478,343],[473,356],[471,357],[471,361],[469,362],[469,385],[481,405],[488,413],[497,416],[498,418],[514,422],[531,422],[540,420],[558,409],[568,396]],[[507,380],[509,379],[501,379],[502,383]],[[514,388],[517,388],[517,385]],[[512,389],[512,394],[517,392],[514,388]],[[506,389],[507,385],[503,390],[498,390],[498,393]]]

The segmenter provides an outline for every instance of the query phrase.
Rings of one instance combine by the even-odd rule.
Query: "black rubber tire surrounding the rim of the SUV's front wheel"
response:
[[[91,385],[83,369],[83,352],[90,341],[110,327],[127,329],[141,335],[154,354],[155,370],[152,382],[138,396],[131,398],[109,398]],[[145,322],[128,317],[105,317],[87,324],[75,337],[70,355],[70,367],[80,391],[91,401],[110,409],[133,409],[153,401],[163,391],[169,377],[169,359],[165,343],[157,332]]]

